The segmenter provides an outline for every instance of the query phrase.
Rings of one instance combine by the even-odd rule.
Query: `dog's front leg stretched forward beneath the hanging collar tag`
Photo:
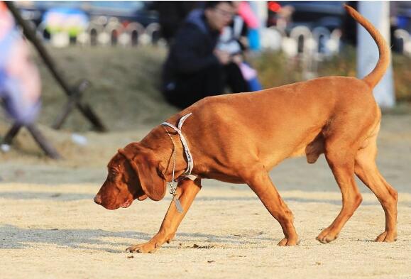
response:
[[[165,242],[170,243],[174,238],[175,232],[180,225],[182,219],[185,217],[188,209],[190,208],[194,198],[201,189],[201,180],[196,179],[194,181],[185,179],[181,180],[177,185],[177,197],[180,199],[183,212],[180,213],[175,207],[175,202],[172,200],[168,211],[165,214],[163,223],[161,223],[160,230],[152,239],[143,244],[133,245],[128,247],[126,251],[130,253],[154,253],[157,248],[163,245]]]

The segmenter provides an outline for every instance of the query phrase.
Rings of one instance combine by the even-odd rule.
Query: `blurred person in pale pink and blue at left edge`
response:
[[[18,124],[31,124],[40,110],[40,76],[11,13],[0,1],[0,99]]]

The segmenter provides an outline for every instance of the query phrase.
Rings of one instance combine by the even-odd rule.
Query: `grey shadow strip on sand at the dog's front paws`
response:
[[[57,248],[75,248],[109,253],[125,253],[128,246],[148,241],[152,235],[136,231],[104,231],[102,229],[26,229],[13,225],[0,226],[0,250],[24,249],[35,244],[54,244]],[[113,241],[112,238],[129,239],[127,242]],[[179,239],[183,238],[183,239]],[[105,240],[107,239],[107,240]],[[278,239],[279,241],[280,239]],[[245,244],[261,244],[273,241],[263,236],[263,232],[248,235],[217,236],[214,234],[177,233],[175,241],[162,248],[230,248]],[[194,245],[192,244],[194,242]],[[216,244],[217,243],[217,244]],[[200,245],[198,245],[200,244]],[[230,245],[231,244],[231,245]],[[91,247],[94,246],[94,247]],[[103,246],[103,247],[97,247]],[[118,248],[107,248],[116,246]]]

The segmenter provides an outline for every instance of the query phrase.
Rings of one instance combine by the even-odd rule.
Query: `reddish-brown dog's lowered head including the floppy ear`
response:
[[[94,202],[106,209],[129,207],[134,199],[163,199],[166,182],[153,151],[130,143],[111,158],[108,175]]]

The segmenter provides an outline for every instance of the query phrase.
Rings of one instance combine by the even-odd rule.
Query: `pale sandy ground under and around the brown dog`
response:
[[[111,155],[148,130],[82,133],[79,146],[71,133],[40,128],[65,160],[44,158],[27,133],[0,154],[0,278],[411,278],[411,115],[383,116],[379,137],[378,165],[400,192],[397,242],[373,242],[384,213],[361,183],[363,204],[339,239],[315,240],[341,207],[322,156],[271,173],[295,214],[299,246],[276,246],[280,226],[246,185],[209,180],[175,241],[154,254],[124,250],[155,234],[170,197],[116,211],[92,202]]]

